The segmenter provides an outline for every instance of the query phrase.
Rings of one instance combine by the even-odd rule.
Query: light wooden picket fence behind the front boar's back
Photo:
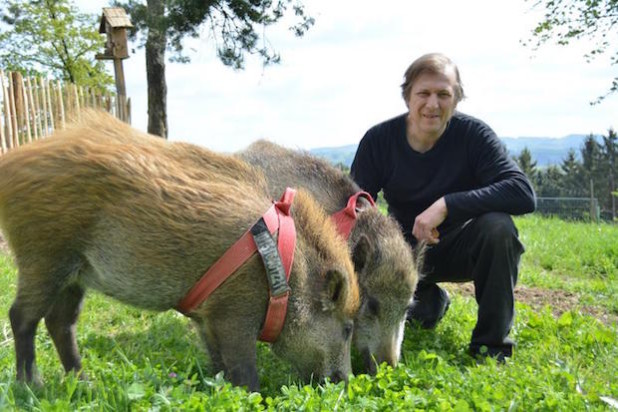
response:
[[[130,100],[90,88],[0,70],[0,155],[12,148],[49,136],[79,116],[85,107],[98,108],[131,123]],[[121,104],[124,110],[121,110]]]

